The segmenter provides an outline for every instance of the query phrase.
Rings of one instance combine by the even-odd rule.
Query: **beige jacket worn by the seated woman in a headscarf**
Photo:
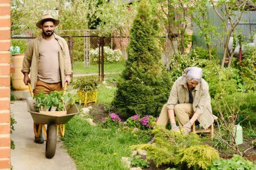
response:
[[[192,95],[194,113],[199,115],[198,121],[206,129],[214,122],[214,116],[212,115],[209,85],[204,79],[195,87],[195,93],[192,93]],[[174,85],[172,85],[166,107],[168,110],[174,110],[174,105],[186,103],[186,101],[189,101],[188,99],[187,79],[185,77],[179,77],[174,82]]]

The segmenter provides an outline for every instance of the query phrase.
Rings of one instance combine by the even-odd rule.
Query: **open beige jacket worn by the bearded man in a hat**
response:
[[[65,75],[71,75],[71,60],[69,56],[69,48],[64,38],[53,34],[55,39],[59,42],[59,69],[61,71],[61,84],[64,87]],[[38,36],[28,44],[26,49],[22,73],[30,74],[30,83],[32,89],[36,86],[36,80],[38,76],[38,58],[39,58],[39,44],[42,40],[42,35]]]

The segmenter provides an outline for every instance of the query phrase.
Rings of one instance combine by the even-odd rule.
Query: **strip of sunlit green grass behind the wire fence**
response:
[[[121,73],[125,69],[124,62],[104,64],[104,73]],[[90,65],[90,67],[84,67],[83,61],[73,62],[73,73],[75,74],[92,74],[98,73],[98,65]]]

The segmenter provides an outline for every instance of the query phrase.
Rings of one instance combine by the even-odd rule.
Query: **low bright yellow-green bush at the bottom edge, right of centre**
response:
[[[218,151],[207,145],[195,145],[179,151],[177,165],[181,169],[207,169],[212,161],[220,159]]]

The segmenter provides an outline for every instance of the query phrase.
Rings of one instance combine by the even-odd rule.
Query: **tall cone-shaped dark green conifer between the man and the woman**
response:
[[[171,88],[156,42],[158,22],[150,13],[146,1],[140,1],[130,30],[128,60],[113,101],[124,118],[134,114],[158,116]]]

